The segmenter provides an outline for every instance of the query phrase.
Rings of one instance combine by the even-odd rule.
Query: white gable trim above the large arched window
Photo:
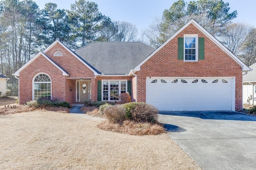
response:
[[[26,64],[24,64],[20,69],[18,69],[14,74],[12,74],[13,76],[20,76],[20,72],[22,70],[24,70],[27,66],[29,66],[29,64],[31,64],[33,61],[35,61],[37,58],[39,57],[44,57],[47,61],[49,61],[51,64],[53,64],[56,68],[58,68],[58,70],[60,70],[62,72],[63,76],[68,76],[68,72],[66,72],[63,68],[61,68],[60,66],[58,66],[58,64],[54,63],[54,61],[52,61],[51,59],[49,59],[44,53],[39,52],[37,55],[35,55],[32,59],[30,59],[30,61],[28,61]]]

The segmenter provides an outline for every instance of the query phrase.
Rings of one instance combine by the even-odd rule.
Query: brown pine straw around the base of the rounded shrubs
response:
[[[166,130],[159,123],[138,123],[134,121],[124,121],[123,124],[112,123],[108,120],[102,121],[98,127],[105,131],[124,133],[129,135],[158,135],[166,133]]]

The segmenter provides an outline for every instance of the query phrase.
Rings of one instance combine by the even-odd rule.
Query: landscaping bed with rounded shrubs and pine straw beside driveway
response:
[[[156,107],[142,102],[130,102],[128,96],[125,96],[125,99],[124,104],[122,102],[119,104],[85,102],[81,110],[88,115],[106,118],[98,125],[102,130],[129,135],[166,133],[164,126],[157,120],[158,109]]]

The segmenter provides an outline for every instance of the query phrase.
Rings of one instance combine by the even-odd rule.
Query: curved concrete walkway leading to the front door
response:
[[[87,115],[86,113],[83,113],[80,109],[84,106],[84,104],[71,104],[71,105],[73,107],[70,109],[69,113],[74,115],[74,116],[78,116],[78,117],[82,117],[84,119],[94,120],[94,121],[103,121],[103,120],[105,120],[105,118],[94,117],[94,116]]]

